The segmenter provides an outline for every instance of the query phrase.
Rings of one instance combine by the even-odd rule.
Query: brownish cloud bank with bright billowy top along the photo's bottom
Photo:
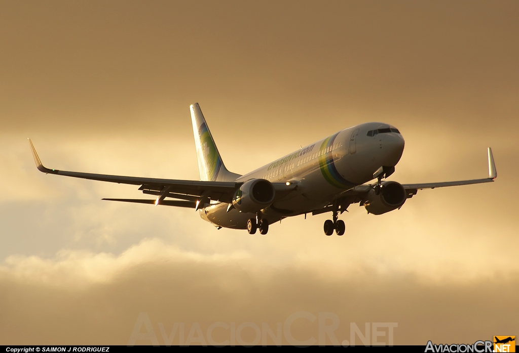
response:
[[[339,278],[319,268],[268,266],[246,254],[200,256],[162,246],[149,240],[117,258],[61,254],[51,263],[4,263],[0,342],[125,345],[141,312],[160,344],[159,323],[168,335],[175,322],[184,323],[185,336],[198,323],[205,336],[213,322],[275,328],[302,311],[337,315],[340,342],[349,339],[351,322],[361,332],[365,322],[397,322],[395,344],[472,343],[519,328],[513,315],[517,276],[471,284],[424,283],[414,275],[376,271]],[[137,259],[136,253],[148,256]],[[318,322],[298,319],[292,331],[298,340],[317,339]],[[243,339],[250,342],[252,334],[244,330]],[[216,341],[229,338],[228,330],[214,331]],[[387,336],[380,341],[388,343]]]

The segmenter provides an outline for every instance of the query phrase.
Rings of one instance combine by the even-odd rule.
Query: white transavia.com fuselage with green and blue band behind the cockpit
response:
[[[368,136],[368,131],[383,132]],[[297,184],[296,190],[277,197],[262,210],[262,217],[272,224],[323,208],[346,190],[373,180],[373,173],[380,167],[397,165],[403,150],[404,139],[393,126],[365,123],[309,144],[237,181],[266,179]],[[255,216],[236,209],[227,212],[227,208],[228,203],[214,203],[201,209],[200,215],[215,226],[235,229],[245,229],[247,220]]]

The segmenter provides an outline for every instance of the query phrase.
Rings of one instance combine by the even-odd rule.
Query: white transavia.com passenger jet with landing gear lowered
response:
[[[371,122],[340,130],[301,147],[272,163],[240,175],[225,167],[198,103],[189,106],[193,123],[200,180],[124,177],[49,169],[43,166],[32,141],[38,170],[47,174],[139,185],[155,199],[103,200],[193,208],[217,229],[260,230],[297,215],[331,212],[324,233],[342,236],[345,223],[338,219],[350,204],[359,203],[368,214],[400,209],[421,189],[493,182],[497,178],[488,148],[488,178],[440,183],[400,184],[384,180],[395,170],[404,151],[404,138],[389,124]],[[374,183],[369,183],[376,180]]]

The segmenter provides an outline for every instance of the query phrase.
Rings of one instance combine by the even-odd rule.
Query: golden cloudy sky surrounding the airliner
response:
[[[339,342],[351,322],[397,322],[395,344],[519,333],[518,16],[506,1],[0,2],[0,344],[127,344],[141,312],[160,344],[175,322],[297,312],[337,315]],[[324,236],[329,215],[250,236],[34,167],[27,137],[47,167],[198,179],[194,102],[237,173],[383,121],[406,140],[392,180],[484,178],[487,146],[499,176],[381,216],[352,205],[343,237]],[[317,340],[316,322],[293,336]]]

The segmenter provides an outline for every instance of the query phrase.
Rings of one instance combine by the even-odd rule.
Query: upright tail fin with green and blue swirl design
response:
[[[191,121],[193,123],[200,180],[235,181],[241,175],[231,173],[225,168],[200,106],[198,103],[195,103],[189,106],[189,110],[191,111]]]

